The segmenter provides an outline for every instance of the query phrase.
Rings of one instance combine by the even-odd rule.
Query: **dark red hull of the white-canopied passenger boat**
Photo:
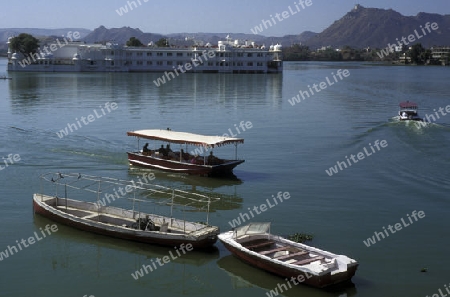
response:
[[[133,166],[202,176],[231,175],[237,165],[244,163],[244,160],[226,160],[220,165],[198,165],[145,156],[135,152],[128,152],[127,154],[128,161]]]

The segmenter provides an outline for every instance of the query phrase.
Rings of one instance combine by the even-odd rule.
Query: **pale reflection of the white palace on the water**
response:
[[[188,73],[156,88],[152,82],[160,75],[160,73],[12,72],[13,79],[9,81],[9,92],[12,109],[16,111],[39,104],[59,105],[62,102],[72,104],[67,99],[89,100],[89,97],[97,95],[110,101],[126,99],[132,109],[147,104],[149,100],[156,101],[160,108],[173,106],[174,100],[180,107],[195,107],[199,104],[217,106],[282,104],[281,74]],[[211,85],[218,86],[215,92],[211,92],[209,88]],[[242,86],[246,86],[245,89]],[[188,98],[191,99],[186,100]]]

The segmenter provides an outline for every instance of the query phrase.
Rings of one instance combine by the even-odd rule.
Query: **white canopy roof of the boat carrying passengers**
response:
[[[221,146],[230,143],[244,143],[243,138],[232,138],[223,136],[206,136],[187,132],[176,132],[172,130],[138,130],[127,132],[128,136],[136,136],[152,140],[162,140],[170,143],[190,144],[197,146]]]

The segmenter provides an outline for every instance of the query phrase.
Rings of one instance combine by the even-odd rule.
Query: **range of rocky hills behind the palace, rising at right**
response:
[[[427,22],[437,23],[439,28],[423,34],[422,27]],[[419,13],[416,16],[403,16],[392,9],[365,8],[356,5],[341,19],[335,21],[321,33],[303,32],[299,35],[286,35],[283,37],[266,37],[256,34],[244,33],[176,33],[162,35],[157,33],[144,33],[140,29],[130,27],[105,28],[100,26],[94,31],[87,29],[0,29],[0,51],[6,51],[8,37],[20,33],[29,33],[33,36],[62,36],[68,31],[78,31],[81,39],[87,43],[112,41],[125,44],[131,37],[136,37],[143,44],[165,37],[171,44],[190,45],[194,42],[217,44],[224,40],[227,35],[240,41],[254,41],[257,44],[282,44],[291,46],[293,44],[307,45],[311,49],[322,46],[342,48],[350,46],[353,48],[385,48],[389,43],[394,44],[396,39],[408,38],[416,35],[416,42],[422,43],[424,47],[433,45],[450,45],[450,15],[439,15],[431,13]],[[300,32],[300,29],[299,29]],[[417,35],[416,35],[417,36]]]

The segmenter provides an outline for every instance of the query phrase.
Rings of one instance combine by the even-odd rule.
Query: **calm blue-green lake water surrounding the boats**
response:
[[[272,222],[272,233],[313,233],[313,246],[357,259],[354,287],[325,291],[297,286],[284,296],[431,296],[450,283],[450,115],[426,128],[396,122],[400,101],[419,104],[422,116],[450,104],[447,67],[391,67],[360,63],[285,62],[280,75],[184,74],[157,88],[158,73],[8,73],[0,80],[2,162],[0,252],[47,224],[33,215],[32,195],[49,171],[135,179],[127,131],[166,129],[222,135],[241,121],[245,163],[239,181],[155,172],[155,183],[220,197],[209,220],[229,222],[278,192],[291,198],[252,221]],[[0,60],[6,71],[6,60]],[[347,69],[344,79],[332,73]],[[1,74],[1,73],[0,73]],[[308,85],[334,81],[292,106]],[[82,116],[117,109],[60,138],[56,132]],[[377,150],[376,141],[387,146]],[[152,147],[161,143],[150,143]],[[373,153],[371,147],[376,151]],[[337,162],[366,154],[329,176]],[[223,147],[219,155],[234,154]],[[4,162],[0,165],[4,165]],[[338,167],[337,167],[338,168]],[[128,208],[131,208],[130,206]],[[409,222],[370,247],[389,225]],[[168,208],[149,211],[168,215]],[[204,221],[205,213],[177,211]],[[414,220],[414,219],[412,219]],[[395,230],[394,230],[395,231]],[[235,259],[218,242],[210,253],[191,252],[135,280],[131,273],[168,248],[81,232],[58,231],[0,261],[0,296],[267,296],[283,278]],[[421,272],[427,268],[427,272]]]

